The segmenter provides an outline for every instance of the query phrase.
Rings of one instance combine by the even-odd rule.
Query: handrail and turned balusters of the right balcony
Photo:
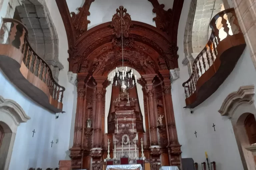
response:
[[[212,20],[210,22],[210,27],[212,29],[212,32],[211,32],[211,36],[209,38],[209,41],[206,43],[203,50],[195,58],[195,60],[192,64],[192,74],[191,74],[191,76],[189,77],[189,79],[187,81],[182,83],[182,86],[185,89],[186,98],[188,98],[186,88],[188,88],[189,95],[191,96],[196,91],[196,83],[197,83],[198,79],[209,69],[209,68],[206,69],[207,67],[206,67],[206,62],[205,62],[205,59],[204,59],[204,54],[206,53],[206,60],[207,60],[207,63],[208,63],[207,66],[209,66],[209,67],[211,67],[213,65],[213,63],[215,61],[215,58],[218,55],[218,52],[217,52],[216,48],[217,48],[217,45],[219,44],[219,42],[221,42],[222,40],[220,40],[220,37],[219,37],[219,29],[217,29],[216,21],[220,17],[222,18],[222,20],[221,20],[222,27],[221,28],[224,28],[224,32],[227,34],[227,36],[224,39],[231,36],[228,33],[229,28],[228,28],[227,20],[224,19],[224,15],[228,14],[228,13],[231,13],[232,17],[233,16],[235,17],[235,20],[233,21],[233,24],[235,24],[237,26],[238,31],[239,31],[238,33],[241,33],[241,29],[240,29],[240,26],[237,22],[237,17],[236,17],[234,8],[229,8],[229,9],[223,10],[223,11],[219,12],[218,14],[216,14],[212,18]],[[236,34],[238,34],[238,33],[236,33]],[[209,57],[208,51],[209,51],[211,57]],[[200,62],[200,59],[202,59],[202,63]],[[202,64],[203,64],[203,67],[204,67],[203,69],[205,70],[204,73],[202,73],[202,66],[201,66]],[[199,72],[200,72],[201,75],[199,74]],[[189,83],[190,83],[190,85],[189,85]],[[187,86],[186,86],[186,84],[187,84]]]

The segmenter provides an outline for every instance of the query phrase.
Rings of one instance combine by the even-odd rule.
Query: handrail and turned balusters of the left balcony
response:
[[[9,44],[12,44],[15,40],[19,39],[19,47],[15,46],[16,48],[20,49],[21,52],[24,54],[24,58],[23,61],[25,60],[25,65],[28,64],[27,68],[29,70],[33,70],[33,74],[36,75],[36,73],[38,75],[36,75],[37,77],[40,78],[40,74],[42,74],[42,80],[49,88],[50,91],[50,95],[53,97],[53,99],[59,101],[59,95],[61,93],[61,98],[60,98],[60,102],[62,102],[63,99],[63,93],[65,91],[65,88],[61,85],[59,85],[55,79],[53,78],[53,74],[52,74],[52,70],[50,68],[50,66],[33,50],[33,48],[31,47],[29,41],[28,41],[28,29],[26,28],[26,26],[21,23],[20,21],[16,20],[16,19],[12,19],[12,18],[3,18],[3,24],[5,23],[11,23],[14,24],[13,27],[10,28],[10,32],[9,32],[9,36],[8,36],[8,40],[9,40]],[[17,26],[20,26],[21,29],[23,31],[20,31],[20,33],[22,34],[21,36],[17,36]],[[18,37],[18,38],[17,38]],[[30,54],[29,54],[30,53]],[[33,68],[31,68],[31,64],[32,64],[32,57],[33,55],[35,56],[35,59],[33,61]],[[28,57],[29,57],[29,61],[28,61]],[[36,69],[36,65],[37,62],[36,59],[39,60],[39,64],[38,64],[38,70]],[[42,68],[42,64],[43,64],[43,68]],[[39,68],[40,67],[40,68]],[[45,69],[47,68],[47,69]],[[41,72],[42,71],[42,72]],[[45,80],[44,80],[45,78]],[[55,86],[55,87],[54,87]],[[58,90],[57,90],[58,87]],[[61,88],[61,90],[60,90]]]

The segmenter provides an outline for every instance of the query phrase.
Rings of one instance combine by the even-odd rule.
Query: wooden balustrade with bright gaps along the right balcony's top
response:
[[[220,24],[219,20],[221,20],[221,27],[218,26],[218,24]],[[221,52],[223,52],[223,49],[225,48],[223,47],[223,44],[222,47],[219,47],[219,43],[230,36],[242,33],[237,22],[234,8],[221,11],[220,13],[215,15],[210,22],[210,27],[212,29],[212,32],[209,41],[207,42],[203,50],[195,58],[192,65],[191,76],[186,82],[182,84],[185,90],[186,98],[189,98],[198,90],[198,80],[211,67],[215,67],[215,59],[220,57],[218,51],[221,50]],[[217,27],[220,29],[217,29]],[[214,68],[214,71],[216,72],[217,69],[218,68]]]

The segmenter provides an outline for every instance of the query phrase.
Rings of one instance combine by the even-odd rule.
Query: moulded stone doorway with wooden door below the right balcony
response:
[[[252,145],[256,142],[256,131],[253,129],[256,127],[254,86],[241,86],[237,92],[230,93],[218,112],[231,121],[244,169],[256,169],[256,147]]]

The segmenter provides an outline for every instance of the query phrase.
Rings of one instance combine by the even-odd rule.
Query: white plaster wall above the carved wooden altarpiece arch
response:
[[[69,11],[75,13],[78,12],[78,7],[82,6],[83,3],[84,0],[77,0],[75,3],[73,0],[67,0]],[[168,10],[172,8],[173,0],[159,0],[159,3],[165,4],[164,9]],[[153,6],[148,0],[95,0],[89,9],[91,15],[87,19],[91,23],[88,24],[88,29],[112,21],[116,9],[121,5],[127,9],[127,13],[131,15],[133,21],[140,21],[154,27],[156,26],[153,21],[156,14],[152,12]]]

